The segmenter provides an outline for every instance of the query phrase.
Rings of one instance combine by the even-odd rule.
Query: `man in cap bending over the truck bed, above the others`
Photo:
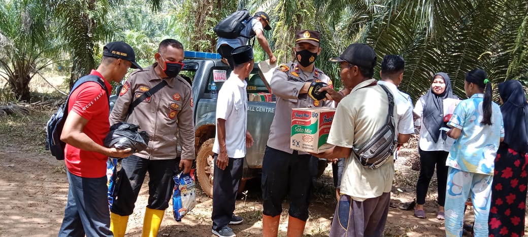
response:
[[[232,39],[218,37],[218,43],[216,43],[216,52],[222,56],[222,62],[229,64],[231,69],[233,69],[235,64],[233,62],[233,56],[231,56],[233,48],[248,44],[249,39],[255,36],[257,37],[262,49],[269,56],[269,64],[274,64],[277,62],[277,58],[275,55],[273,55],[273,52],[271,52],[268,40],[266,40],[266,36],[264,36],[263,29],[266,29],[266,31],[271,30],[271,26],[269,25],[269,16],[265,12],[257,12],[246,24],[246,27],[242,29],[240,32],[241,36]]]

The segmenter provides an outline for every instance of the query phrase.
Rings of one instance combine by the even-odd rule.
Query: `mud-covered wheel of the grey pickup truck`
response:
[[[213,196],[213,172],[214,172],[214,138],[205,141],[200,146],[196,157],[196,171],[198,182],[205,194]]]

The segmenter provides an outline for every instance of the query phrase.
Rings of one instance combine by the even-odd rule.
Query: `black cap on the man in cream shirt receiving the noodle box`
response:
[[[348,62],[352,65],[374,68],[376,65],[376,52],[366,44],[351,44],[346,47],[345,51],[339,57],[332,57],[330,62]]]

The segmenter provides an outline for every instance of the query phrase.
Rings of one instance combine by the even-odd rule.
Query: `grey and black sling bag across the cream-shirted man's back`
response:
[[[371,137],[361,148],[353,147],[352,151],[360,161],[361,165],[374,170],[389,160],[394,153],[398,138],[394,123],[394,96],[384,85],[380,85],[389,97],[389,114],[386,123]]]

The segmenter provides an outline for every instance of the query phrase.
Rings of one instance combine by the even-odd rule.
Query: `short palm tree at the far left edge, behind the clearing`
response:
[[[29,83],[45,66],[54,63],[60,42],[48,9],[39,0],[0,4],[0,76],[13,92],[29,101]]]

